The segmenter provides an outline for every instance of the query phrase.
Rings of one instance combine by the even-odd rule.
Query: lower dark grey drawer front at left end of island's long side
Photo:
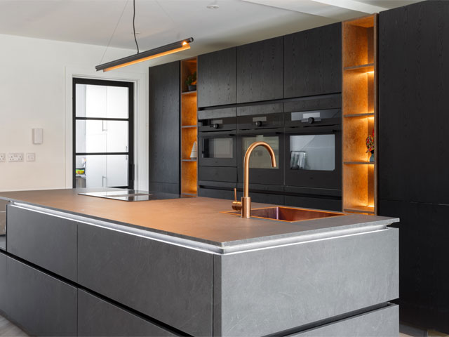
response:
[[[76,336],[76,288],[7,258],[6,315],[32,336]]]

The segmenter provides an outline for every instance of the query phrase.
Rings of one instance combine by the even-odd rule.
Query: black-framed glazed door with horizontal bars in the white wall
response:
[[[134,84],[74,78],[73,187],[134,188]]]

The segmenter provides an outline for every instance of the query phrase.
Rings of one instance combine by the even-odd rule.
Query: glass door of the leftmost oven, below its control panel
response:
[[[199,164],[203,166],[236,166],[236,138],[222,133],[200,134]]]

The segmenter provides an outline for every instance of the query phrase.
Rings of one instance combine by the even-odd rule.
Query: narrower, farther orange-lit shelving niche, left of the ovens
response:
[[[197,141],[196,90],[189,91],[187,77],[196,72],[196,58],[181,61],[181,194],[197,193],[197,159],[191,159]]]

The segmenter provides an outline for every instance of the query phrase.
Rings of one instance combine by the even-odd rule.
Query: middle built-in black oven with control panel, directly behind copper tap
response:
[[[283,185],[283,112],[251,114],[237,117],[237,181],[243,183],[243,159],[248,147],[256,142],[268,143],[276,155],[272,168],[269,152],[257,147],[250,157],[250,183]]]

